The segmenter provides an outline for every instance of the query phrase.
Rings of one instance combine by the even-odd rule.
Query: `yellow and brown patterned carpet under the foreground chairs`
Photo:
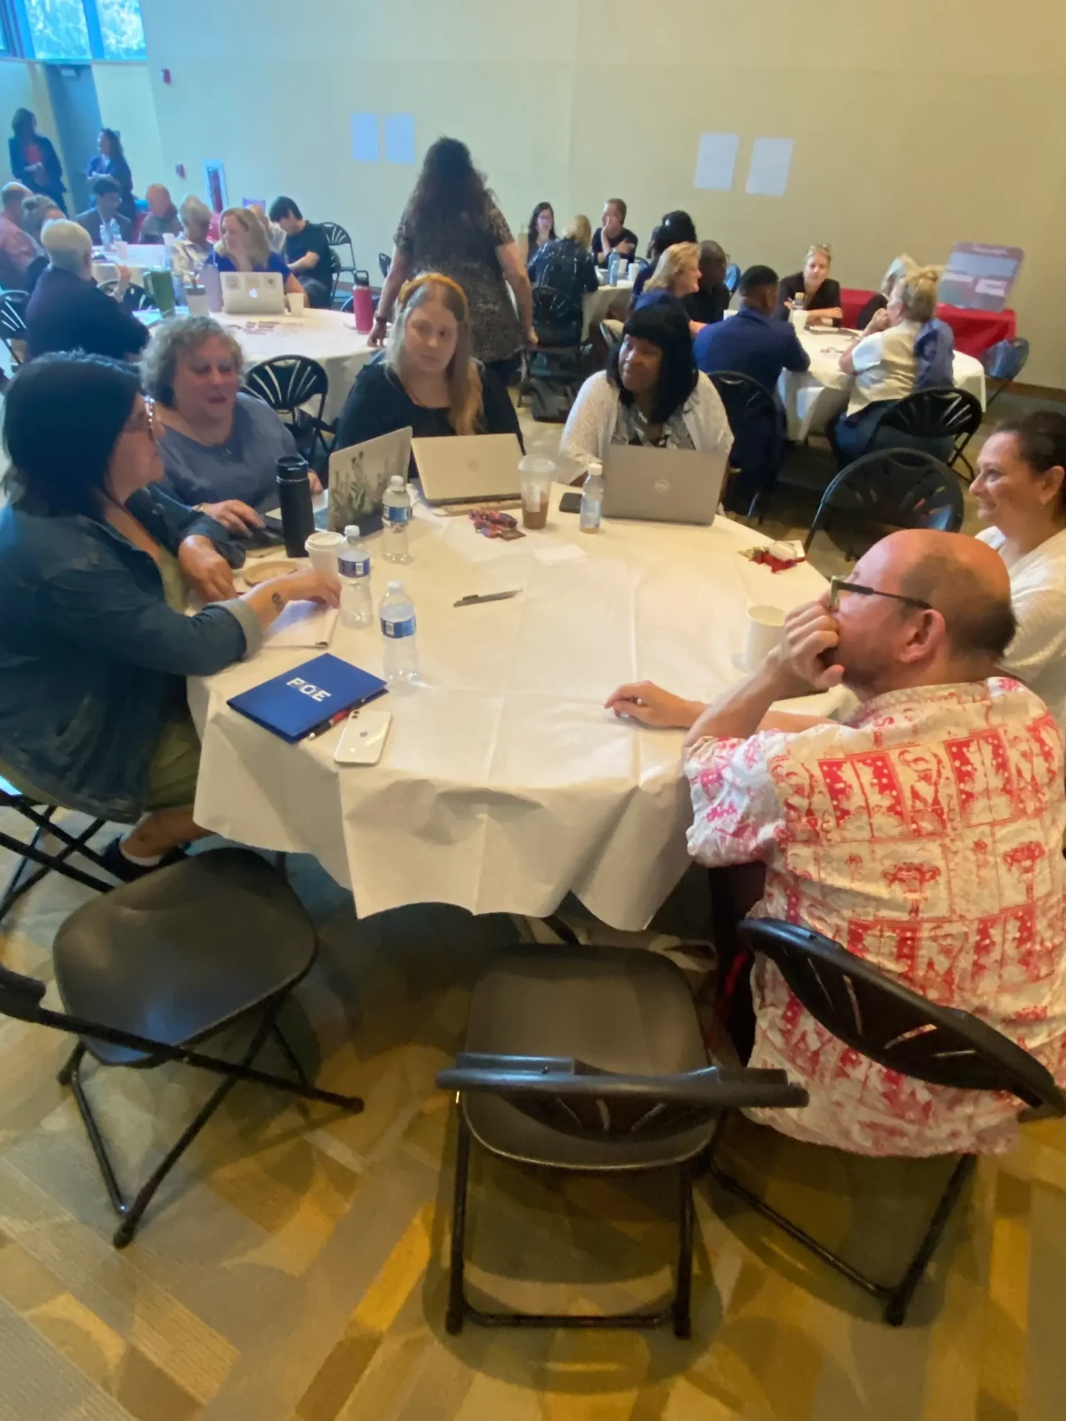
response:
[[[449,1339],[455,1123],[434,1074],[462,1042],[469,985],[517,928],[445,908],[360,924],[314,865],[293,881],[324,948],[289,1032],[367,1110],[304,1117],[237,1086],[125,1252],[55,1083],[70,1039],[0,1020],[0,1421],[1063,1421],[1059,1123],[981,1165],[898,1331],[701,1187],[691,1343]],[[0,961],[50,980],[48,945],[80,901],[45,881],[7,922]],[[90,1080],[126,1184],[208,1088],[178,1067]],[[944,1177],[942,1161],[854,1161],[753,1127],[735,1154],[782,1209],[890,1272]],[[669,1283],[672,1199],[669,1179],[620,1187],[476,1158],[472,1290],[532,1309],[651,1300]]]

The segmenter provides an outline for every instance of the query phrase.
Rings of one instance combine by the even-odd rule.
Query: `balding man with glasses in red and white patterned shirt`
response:
[[[1046,706],[999,664],[1011,584],[991,549],[908,530],[874,544],[849,581],[792,611],[780,645],[712,706],[651,684],[607,705],[688,730],[691,855],[765,865],[755,918],[833,938],[940,1006],[974,1012],[1066,1084],[1063,742]],[[770,706],[839,684],[840,723]],[[755,870],[748,870],[759,877]],[[723,875],[719,875],[719,878]],[[752,1118],[856,1154],[1009,1150],[1013,1096],[931,1086],[834,1037],[768,961],[719,944],[739,992],[729,1029],[748,1064],[787,1071],[806,1110]]]

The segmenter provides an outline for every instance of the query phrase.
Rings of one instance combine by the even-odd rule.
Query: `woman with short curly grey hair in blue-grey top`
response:
[[[276,507],[277,460],[297,452],[270,405],[242,391],[242,369],[236,335],[209,315],[165,321],[141,362],[162,487],[239,536],[260,526],[257,510]]]

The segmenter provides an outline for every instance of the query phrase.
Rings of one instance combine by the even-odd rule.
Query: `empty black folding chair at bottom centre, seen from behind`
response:
[[[668,958],[534,946],[496,959],[470,1000],[466,1050],[438,1074],[458,1097],[446,1329],[655,1327],[691,1336],[692,1165],[722,1110],[804,1106],[783,1071],[708,1066],[692,995]],[[463,1283],[470,1138],[526,1165],[584,1174],[678,1171],[672,1299],[652,1312],[486,1312]]]

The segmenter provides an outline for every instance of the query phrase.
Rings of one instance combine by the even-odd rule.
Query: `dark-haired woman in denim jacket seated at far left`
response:
[[[10,503],[0,512],[0,773],[41,804],[135,827],[104,858],[136,878],[203,836],[186,676],[257,651],[294,600],[338,584],[293,573],[237,597],[242,554],[162,475],[135,369],[44,355],[4,396]],[[208,605],[185,615],[186,594]]]

